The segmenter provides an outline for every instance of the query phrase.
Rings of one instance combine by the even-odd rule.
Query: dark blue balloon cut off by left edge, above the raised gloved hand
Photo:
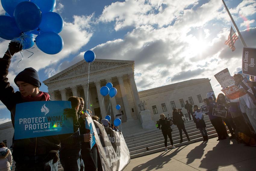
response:
[[[5,40],[12,40],[20,37],[20,29],[18,29],[13,17],[0,16],[0,37]]]

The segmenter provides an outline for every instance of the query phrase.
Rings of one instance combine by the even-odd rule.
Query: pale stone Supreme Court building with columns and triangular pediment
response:
[[[145,110],[150,111],[149,117],[155,122],[160,113],[172,116],[174,107],[184,109],[186,100],[200,106],[207,92],[213,91],[210,80],[201,78],[138,92],[134,80],[134,61],[110,59],[95,59],[90,63],[88,84],[88,68],[89,63],[82,60],[43,81],[48,86],[51,98],[65,101],[70,96],[82,97],[86,109],[89,86],[87,108],[94,115],[105,118],[111,110],[111,120],[114,121],[115,114],[122,113],[123,128],[136,127],[137,131],[143,122],[140,118],[141,103],[145,104]],[[117,89],[117,95],[111,98],[111,108],[110,97],[100,94],[100,88],[107,82],[111,82]],[[120,111],[116,110],[117,104],[121,106]],[[186,110],[183,113],[186,114]]]

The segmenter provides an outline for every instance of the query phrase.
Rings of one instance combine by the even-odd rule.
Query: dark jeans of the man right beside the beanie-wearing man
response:
[[[60,158],[61,165],[64,171],[80,171],[81,159],[80,156],[72,156]]]

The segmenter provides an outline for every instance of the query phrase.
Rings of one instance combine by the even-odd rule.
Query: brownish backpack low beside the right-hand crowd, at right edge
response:
[[[250,129],[240,126],[235,130],[236,140],[246,146],[256,146],[256,135],[251,133]]]

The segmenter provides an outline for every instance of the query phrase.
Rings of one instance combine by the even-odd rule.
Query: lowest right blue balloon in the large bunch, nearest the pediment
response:
[[[63,39],[55,32],[41,33],[36,37],[36,46],[47,54],[56,54],[63,48]]]

